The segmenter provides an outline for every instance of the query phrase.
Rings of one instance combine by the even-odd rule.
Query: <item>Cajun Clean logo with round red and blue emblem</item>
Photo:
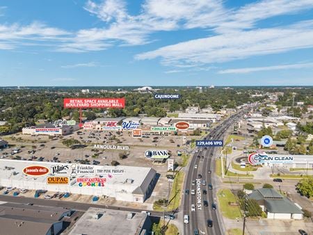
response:
[[[248,162],[251,165],[258,165],[262,163],[293,163],[294,156],[268,156],[267,154],[252,153],[248,156]]]

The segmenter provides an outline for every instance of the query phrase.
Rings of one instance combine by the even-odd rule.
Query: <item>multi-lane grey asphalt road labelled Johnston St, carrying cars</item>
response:
[[[244,113],[244,111],[241,111],[232,115],[232,117],[225,120],[218,127],[212,129],[206,138],[212,140],[223,139],[225,131]],[[184,224],[184,234],[186,235],[194,234],[195,229],[198,229],[200,234],[225,234],[223,225],[220,223],[218,204],[216,202],[216,178],[214,177],[216,149],[216,147],[207,147],[207,149],[202,149],[202,151],[198,149],[191,159],[184,184],[184,200],[182,205],[183,216],[189,216],[189,223]],[[197,168],[195,168],[195,165],[197,165]],[[202,175],[201,178],[198,177],[199,174]],[[202,180],[206,181],[205,185],[202,184]],[[193,181],[195,181],[195,185],[193,185]],[[213,188],[209,189],[208,184],[211,184]],[[186,194],[186,189],[190,193]],[[191,190],[195,190],[195,195],[191,195]],[[206,190],[207,194],[204,194],[203,190]],[[204,206],[204,200],[208,202],[208,206]],[[216,210],[212,209],[212,203],[216,204]],[[195,211],[191,211],[191,204],[195,205]],[[213,221],[213,227],[207,226],[207,220]]]

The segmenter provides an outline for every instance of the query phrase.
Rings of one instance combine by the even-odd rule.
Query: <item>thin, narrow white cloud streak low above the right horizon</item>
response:
[[[271,71],[271,70],[294,70],[312,68],[313,63],[297,63],[293,65],[273,65],[266,67],[244,67],[241,69],[220,70],[218,74],[247,74],[249,72]]]

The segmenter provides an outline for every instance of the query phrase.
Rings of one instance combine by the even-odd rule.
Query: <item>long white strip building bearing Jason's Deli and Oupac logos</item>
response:
[[[38,165],[49,172],[43,176],[25,175],[26,167]],[[52,168],[61,170],[53,174]],[[133,166],[103,166],[67,163],[32,162],[0,159],[0,186],[47,190],[83,195],[106,195],[116,200],[144,202],[157,183],[157,172],[152,168]],[[70,177],[69,184],[48,184],[47,177]]]

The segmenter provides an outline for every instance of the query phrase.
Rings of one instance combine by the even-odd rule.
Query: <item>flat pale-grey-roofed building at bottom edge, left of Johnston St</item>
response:
[[[152,222],[146,213],[129,213],[90,207],[69,232],[69,235],[145,235]]]

